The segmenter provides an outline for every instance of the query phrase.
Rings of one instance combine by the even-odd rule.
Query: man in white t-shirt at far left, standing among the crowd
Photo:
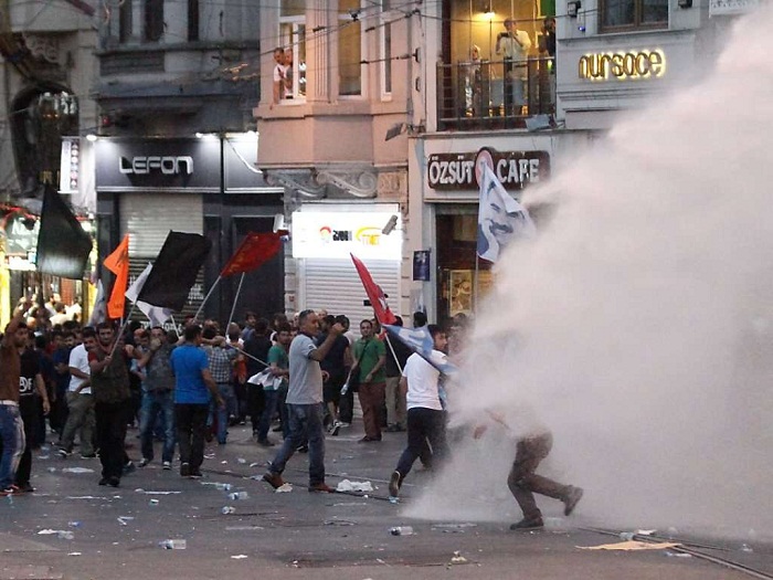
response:
[[[75,432],[81,430],[81,456],[96,457],[94,453],[94,399],[91,389],[91,369],[88,367],[88,350],[96,347],[96,334],[93,328],[83,329],[83,344],[70,352],[70,389],[67,391],[67,421],[62,430],[60,449],[61,457],[73,453]]]

